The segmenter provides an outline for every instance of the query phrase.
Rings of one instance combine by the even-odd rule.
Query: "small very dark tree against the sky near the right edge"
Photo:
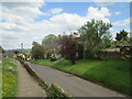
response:
[[[117,33],[116,40],[121,41],[121,40],[127,40],[129,32],[122,30],[119,33]]]

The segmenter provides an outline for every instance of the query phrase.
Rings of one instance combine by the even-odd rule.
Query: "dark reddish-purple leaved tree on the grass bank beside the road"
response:
[[[64,35],[61,40],[61,54],[75,64],[77,54],[77,43],[74,35]]]

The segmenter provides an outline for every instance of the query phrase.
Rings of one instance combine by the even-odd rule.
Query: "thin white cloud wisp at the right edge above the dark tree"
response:
[[[118,25],[118,26],[124,26],[124,25],[128,25],[130,23],[132,23],[132,18],[128,18],[128,19],[124,19],[124,20],[121,20],[121,21],[117,21],[117,22],[113,22],[112,24]]]

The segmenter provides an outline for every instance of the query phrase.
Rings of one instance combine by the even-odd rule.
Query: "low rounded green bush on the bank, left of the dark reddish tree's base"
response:
[[[53,66],[67,66],[67,65],[72,65],[72,62],[64,58],[58,59],[53,64]]]

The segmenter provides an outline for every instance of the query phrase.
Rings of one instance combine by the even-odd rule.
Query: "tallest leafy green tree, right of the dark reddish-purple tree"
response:
[[[111,23],[91,20],[78,30],[84,43],[84,58],[98,57],[98,52],[103,47],[105,36],[110,35],[111,26]]]

